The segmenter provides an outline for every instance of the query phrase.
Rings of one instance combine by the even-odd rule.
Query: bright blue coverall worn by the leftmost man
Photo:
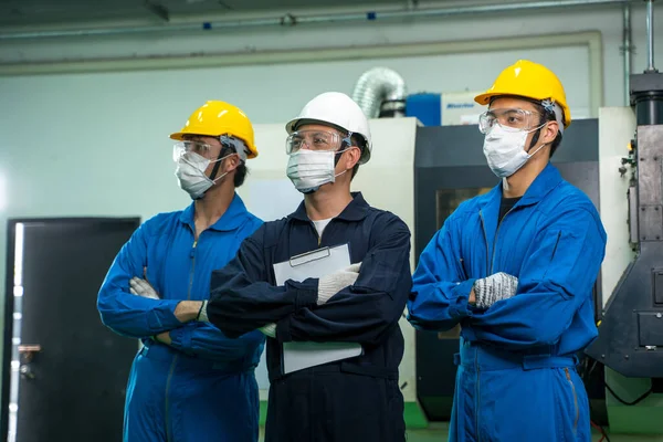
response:
[[[182,299],[207,299],[210,275],[236,253],[262,221],[235,194],[225,213],[194,240],[194,206],[158,214],[123,246],[98,294],[103,323],[139,338],[128,380],[125,442],[255,442],[259,393],[254,368],[264,348],[257,330],[227,338],[208,323],[181,324]],[[161,299],[129,293],[133,276],[147,280]],[[150,337],[170,332],[170,346]]]

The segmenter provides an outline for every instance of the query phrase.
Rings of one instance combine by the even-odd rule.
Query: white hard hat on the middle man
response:
[[[361,135],[366,147],[361,151],[359,164],[370,159],[372,145],[370,143],[370,128],[368,119],[357,103],[340,92],[325,92],[306,103],[299,115],[285,125],[288,134],[297,130],[302,124],[319,123],[330,124],[346,131]]]

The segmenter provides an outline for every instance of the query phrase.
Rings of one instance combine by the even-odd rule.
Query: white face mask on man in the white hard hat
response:
[[[295,185],[295,189],[302,193],[315,192],[320,186],[334,182],[336,177],[347,171],[335,175],[334,159],[337,154],[344,151],[299,149],[290,155],[287,177]]]

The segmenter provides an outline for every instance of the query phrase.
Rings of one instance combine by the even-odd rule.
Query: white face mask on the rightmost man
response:
[[[484,155],[493,173],[499,178],[511,177],[525,166],[546,145],[540,145],[532,154],[525,151],[527,135],[540,127],[543,126],[533,130],[512,131],[501,125],[493,126],[484,138]]]

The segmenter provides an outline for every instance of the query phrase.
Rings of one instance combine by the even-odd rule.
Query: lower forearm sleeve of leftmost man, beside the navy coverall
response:
[[[231,339],[212,324],[188,323],[171,330],[170,339],[171,347],[187,355],[230,362],[251,357],[265,336],[255,330],[240,336],[239,339]]]

